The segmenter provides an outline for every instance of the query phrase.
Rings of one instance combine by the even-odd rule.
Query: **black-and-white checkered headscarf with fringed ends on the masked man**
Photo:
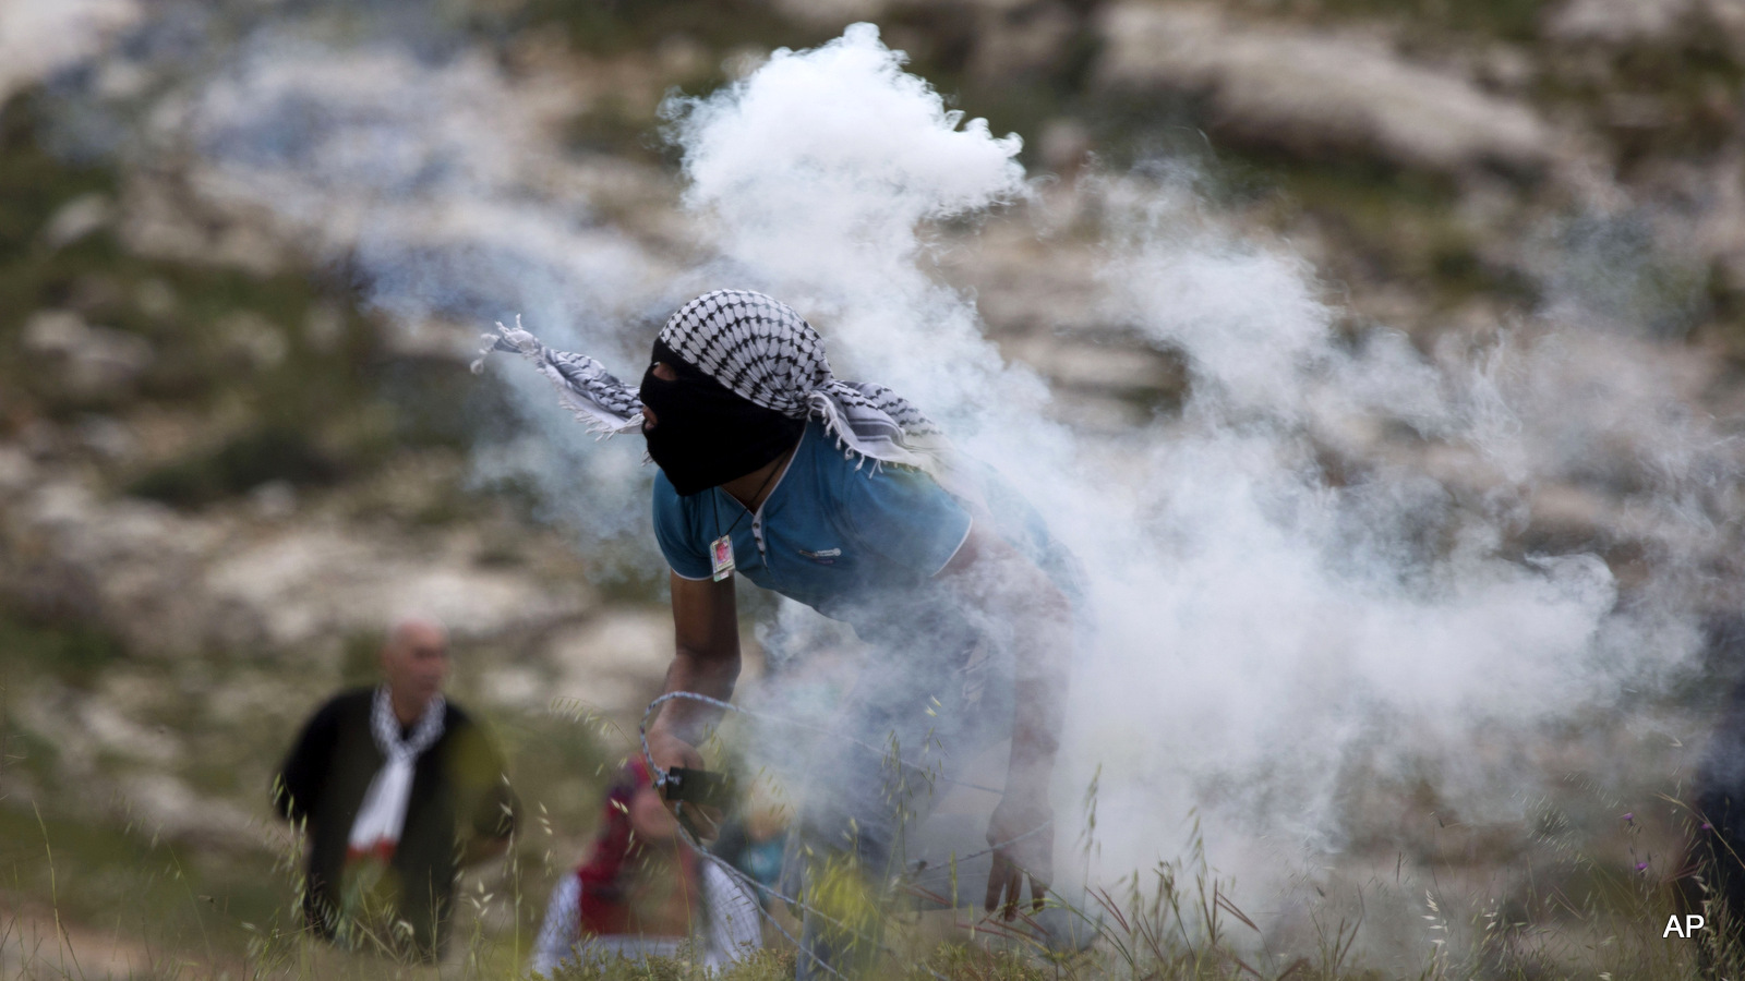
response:
[[[558,389],[558,403],[595,433],[642,428],[637,389],[612,377],[585,354],[553,351],[537,337],[497,325],[485,335],[483,354],[525,356]],[[703,293],[672,314],[660,340],[738,396],[789,419],[818,419],[848,454],[878,463],[920,466],[935,477],[946,470],[944,433],[909,401],[885,386],[845,382],[831,374],[824,339],[787,304],[750,290]]]

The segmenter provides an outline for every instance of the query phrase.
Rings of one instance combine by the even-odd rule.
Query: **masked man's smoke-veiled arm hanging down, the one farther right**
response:
[[[981,525],[970,527],[939,576],[1010,646],[1016,662],[1012,758],[1005,796],[988,822],[995,854],[986,895],[989,911],[1003,906],[1012,918],[1023,878],[1030,876],[1031,904],[1040,909],[1054,866],[1049,780],[1066,705],[1071,604],[1035,562]]]

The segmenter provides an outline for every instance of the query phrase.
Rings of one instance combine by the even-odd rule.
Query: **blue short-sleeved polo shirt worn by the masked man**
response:
[[[984,485],[986,520],[1028,555],[1068,595],[1070,560],[1047,534],[1042,517],[991,470]],[[968,637],[934,576],[951,562],[970,532],[970,511],[932,477],[881,466],[836,449],[818,421],[810,421],[794,459],[757,513],[719,487],[681,497],[667,475],[654,478],[654,536],[672,571],[686,580],[712,578],[708,546],[733,538],[736,571],[752,583],[850,623],[872,644],[928,646]]]

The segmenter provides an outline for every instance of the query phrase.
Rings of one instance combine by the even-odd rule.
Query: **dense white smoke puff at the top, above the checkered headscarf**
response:
[[[719,218],[726,255],[796,285],[855,286],[843,269],[869,267],[913,288],[916,223],[1023,189],[1017,136],[960,127],[872,24],[672,108],[689,206]]]

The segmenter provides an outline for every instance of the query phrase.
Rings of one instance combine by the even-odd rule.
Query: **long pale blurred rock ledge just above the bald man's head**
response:
[[[190,517],[44,478],[0,504],[0,588],[154,656],[337,651],[408,611],[443,618],[462,639],[494,639],[593,607],[579,581],[478,566],[475,545],[464,531],[414,536],[379,524],[265,529],[255,508]]]

